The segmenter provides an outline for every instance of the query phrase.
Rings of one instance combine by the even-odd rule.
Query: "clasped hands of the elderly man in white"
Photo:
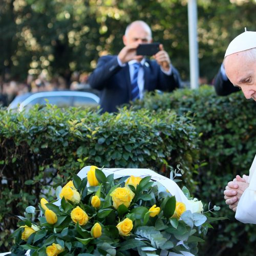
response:
[[[233,211],[237,210],[238,202],[248,186],[248,176],[246,175],[243,175],[243,178],[237,175],[233,181],[227,183],[224,190],[224,199],[230,209]]]

